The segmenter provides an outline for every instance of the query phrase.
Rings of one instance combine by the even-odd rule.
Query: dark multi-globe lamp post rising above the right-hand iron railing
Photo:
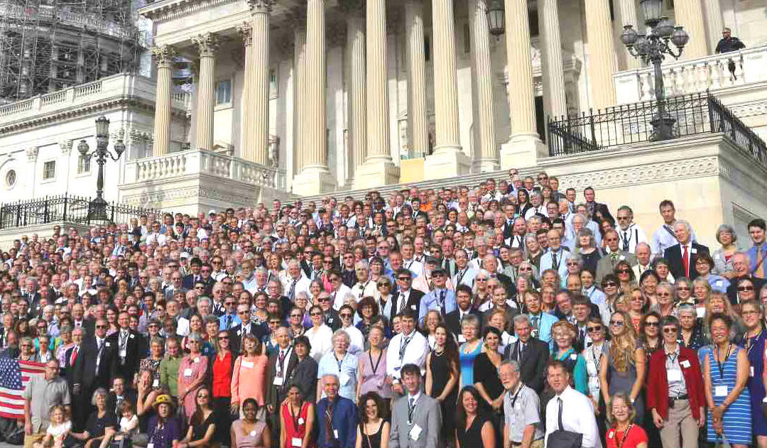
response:
[[[676,121],[666,112],[666,99],[663,91],[663,72],[660,63],[665,59],[664,54],[670,54],[674,59],[682,55],[682,50],[690,36],[681,26],[674,26],[669,18],[661,16],[663,0],[640,0],[644,23],[650,28],[650,34],[637,33],[632,25],[624,26],[621,42],[634,58],[642,58],[646,64],[652,63],[655,69],[655,99],[658,110],[650,124],[653,133],[650,141],[669,140],[673,138],[673,124]],[[669,45],[671,41],[676,46],[676,52]]]

